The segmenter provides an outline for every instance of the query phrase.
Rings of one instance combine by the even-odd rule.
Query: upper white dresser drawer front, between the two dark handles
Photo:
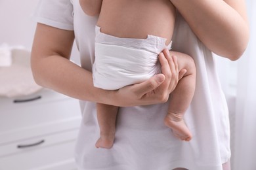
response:
[[[0,113],[0,146],[20,139],[78,128],[79,103],[73,99],[57,101]]]

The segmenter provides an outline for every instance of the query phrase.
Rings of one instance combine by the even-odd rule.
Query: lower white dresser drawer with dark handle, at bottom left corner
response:
[[[77,131],[68,131],[56,136],[37,138],[45,142],[33,147],[17,148],[9,144],[0,148],[0,170],[73,170],[75,136]],[[33,141],[33,140],[32,140]],[[22,144],[26,144],[24,141]],[[14,147],[14,148],[12,148]]]

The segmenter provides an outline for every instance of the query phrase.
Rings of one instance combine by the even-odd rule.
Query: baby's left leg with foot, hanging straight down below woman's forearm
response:
[[[96,148],[112,148],[116,133],[116,116],[118,107],[112,105],[96,104],[100,138]]]

